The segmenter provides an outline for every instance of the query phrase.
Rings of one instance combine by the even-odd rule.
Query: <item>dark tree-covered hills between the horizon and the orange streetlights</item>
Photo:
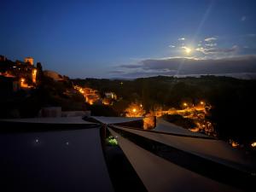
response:
[[[89,86],[102,94],[113,91],[122,99],[113,105],[120,113],[130,102],[139,101],[150,108],[182,108],[183,102],[203,100],[212,105],[211,119],[218,137],[253,141],[256,107],[256,80],[202,76],[201,78],[153,77],[134,80],[73,79],[74,84]]]

